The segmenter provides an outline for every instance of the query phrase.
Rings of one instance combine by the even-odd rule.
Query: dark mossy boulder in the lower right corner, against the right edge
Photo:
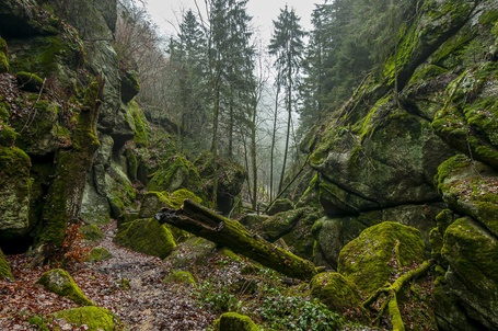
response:
[[[464,217],[444,232],[442,258],[450,267],[443,289],[458,298],[470,319],[487,330],[498,328],[498,240]]]

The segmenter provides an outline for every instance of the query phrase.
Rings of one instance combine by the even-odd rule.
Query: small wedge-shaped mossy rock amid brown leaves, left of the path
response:
[[[61,269],[54,269],[44,273],[36,283],[42,284],[49,292],[71,299],[78,305],[93,306],[93,303],[86,298],[71,275]]]

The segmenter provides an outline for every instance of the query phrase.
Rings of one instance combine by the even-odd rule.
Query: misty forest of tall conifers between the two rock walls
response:
[[[305,162],[299,142],[306,132],[367,75],[382,73],[418,2],[324,1],[311,31],[285,7],[263,45],[247,0],[198,1],[170,38],[159,35],[141,1],[120,0],[115,49],[120,69],[138,75],[149,119],[174,123],[172,134],[193,159],[210,150],[243,164],[244,198],[256,208]]]

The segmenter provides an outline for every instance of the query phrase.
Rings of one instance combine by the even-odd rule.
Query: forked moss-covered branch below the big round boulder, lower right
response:
[[[399,290],[406,283],[426,273],[429,270],[429,267],[431,267],[433,264],[435,264],[433,260],[427,260],[418,267],[403,274],[390,286],[379,288],[362,304],[363,308],[368,309],[373,303],[377,301],[377,299],[379,299],[381,295],[383,294],[386,295],[387,301],[385,301],[384,305],[381,306],[380,316],[382,316],[385,308],[387,308],[389,316],[391,318],[391,323],[393,326],[393,331],[404,331],[405,326],[401,316],[399,306],[397,305],[397,293],[399,293]]]

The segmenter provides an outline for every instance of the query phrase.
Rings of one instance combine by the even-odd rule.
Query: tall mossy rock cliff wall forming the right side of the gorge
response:
[[[496,1],[424,1],[381,77],[303,144],[327,214],[316,260],[336,267],[379,222],[420,229],[445,330],[498,328],[497,21]]]

